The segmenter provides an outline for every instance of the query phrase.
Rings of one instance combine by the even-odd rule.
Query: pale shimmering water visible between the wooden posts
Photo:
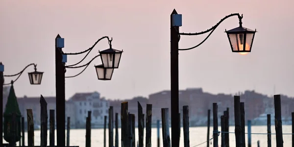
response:
[[[229,132],[234,132],[235,127],[230,126]],[[212,126],[210,127],[211,133],[210,136],[212,138]],[[221,127],[219,127],[221,130]],[[136,128],[136,144],[138,140],[138,129]],[[252,133],[267,133],[267,126],[252,126]],[[171,132],[171,128],[170,128]],[[247,132],[247,127],[245,127],[245,132]],[[271,132],[275,133],[274,125],[271,126]],[[91,131],[91,147],[103,147],[104,139],[103,139],[103,129],[92,129]],[[144,131],[146,133],[146,131]],[[162,134],[160,129],[160,147],[163,147],[162,144]],[[292,133],[291,125],[283,125],[283,133]],[[85,129],[72,129],[70,132],[70,146],[79,146],[85,147]],[[246,146],[247,146],[247,134],[246,135]],[[190,147],[194,147],[198,144],[201,144],[206,141],[207,136],[207,127],[190,127]],[[115,130],[114,130],[115,137]],[[35,145],[40,146],[40,130],[35,131]],[[181,129],[181,138],[180,138],[180,147],[184,146],[183,141],[183,128]],[[119,141],[121,140],[121,129],[119,129]],[[251,145],[252,147],[257,147],[257,141],[260,141],[261,147],[267,147],[267,135],[255,135],[251,134]],[[284,147],[292,146],[292,135],[283,135]],[[157,128],[152,128],[152,147],[157,147]],[[3,141],[6,143],[5,141]],[[213,143],[213,140],[212,140]],[[145,144],[145,141],[144,141]],[[275,135],[271,135],[271,147],[276,147]],[[19,143],[17,143],[19,145]],[[27,146],[27,133],[25,133],[25,145]],[[49,145],[49,131],[48,131],[48,145]],[[55,130],[55,145],[56,145],[56,130]],[[121,142],[119,142],[119,146],[121,147]],[[145,145],[144,145],[145,146]],[[219,136],[219,146],[221,147],[221,135]],[[108,130],[106,130],[106,147],[108,147]],[[206,143],[197,147],[206,147]],[[212,145],[210,145],[212,147]],[[235,135],[230,134],[230,147],[235,146]]]

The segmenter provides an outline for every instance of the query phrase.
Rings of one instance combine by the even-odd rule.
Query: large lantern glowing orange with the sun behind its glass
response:
[[[228,31],[225,30],[225,32],[227,33],[233,52],[251,52],[256,29],[254,31],[249,28],[239,26]]]

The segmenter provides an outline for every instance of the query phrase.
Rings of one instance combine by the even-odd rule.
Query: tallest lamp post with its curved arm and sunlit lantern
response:
[[[190,50],[200,46],[205,40],[211,35],[211,33],[221,24],[225,19],[238,16],[239,18],[239,27],[228,30],[227,37],[230,42],[230,46],[233,52],[239,52],[241,54],[248,53],[251,51],[254,35],[256,32],[245,28],[242,26],[243,15],[240,16],[239,13],[231,14],[223,19],[217,24],[211,27],[206,31],[199,33],[179,33],[179,26],[182,26],[182,15],[177,14],[176,10],[173,9],[171,14],[171,116],[172,116],[172,146],[179,147],[179,80],[178,80],[178,50]],[[180,35],[201,35],[205,33],[209,35],[198,45],[188,49],[179,49],[178,42],[180,40]]]

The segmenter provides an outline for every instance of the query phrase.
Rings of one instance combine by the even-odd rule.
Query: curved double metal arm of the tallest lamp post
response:
[[[229,17],[232,17],[232,16],[238,16],[239,18],[239,25],[242,26],[242,18],[243,18],[243,14],[240,16],[239,13],[234,13],[234,14],[230,14],[228,16],[225,16],[223,19],[221,19],[221,21],[219,23],[217,23],[217,25],[214,25],[213,27],[211,27],[210,29],[206,30],[206,31],[202,31],[202,32],[198,32],[198,33],[179,33],[179,35],[201,35],[201,34],[205,34],[205,33],[208,33],[209,31],[211,31],[207,37],[202,41],[200,42],[198,45],[192,47],[192,48],[187,48],[187,49],[179,49],[179,50],[190,50],[190,49],[195,49],[197,48],[198,46],[200,46],[201,44],[203,44],[207,39],[208,37],[212,34],[212,32],[221,24],[221,22],[223,22],[225,19],[229,18]]]

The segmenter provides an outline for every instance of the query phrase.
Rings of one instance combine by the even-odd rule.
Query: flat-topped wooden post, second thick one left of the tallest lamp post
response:
[[[152,104],[146,107],[146,147],[151,147]]]

